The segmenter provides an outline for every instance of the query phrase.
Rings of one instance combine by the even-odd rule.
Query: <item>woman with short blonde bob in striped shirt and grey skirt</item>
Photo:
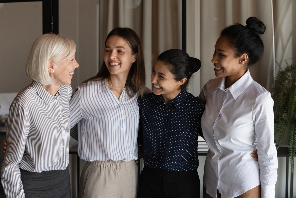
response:
[[[32,84],[13,100],[1,182],[7,198],[70,198],[69,100],[78,63],[73,40],[44,34],[33,44],[26,73]]]

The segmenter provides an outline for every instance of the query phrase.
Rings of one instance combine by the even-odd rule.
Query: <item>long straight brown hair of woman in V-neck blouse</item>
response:
[[[107,40],[111,36],[119,36],[128,42],[128,45],[131,47],[131,53],[134,55],[137,53],[137,60],[132,64],[131,69],[128,73],[128,78],[126,80],[126,93],[128,96],[133,97],[131,94],[132,90],[134,93],[139,92],[141,96],[144,95],[144,89],[145,89],[145,64],[144,64],[144,54],[143,54],[143,47],[140,38],[136,34],[135,31],[133,31],[131,28],[114,28],[110,33],[108,34],[105,45],[107,43]],[[85,80],[83,83],[86,83],[88,81],[101,81],[105,79],[110,79],[110,73],[107,69],[107,66],[105,64],[105,61],[103,61],[103,64],[99,70],[99,73],[89,78],[88,80]]]

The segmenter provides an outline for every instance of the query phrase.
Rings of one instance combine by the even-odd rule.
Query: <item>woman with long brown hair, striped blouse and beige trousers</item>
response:
[[[115,28],[105,42],[99,73],[76,88],[71,127],[78,123],[78,154],[87,161],[78,197],[136,197],[138,96],[145,91],[141,41],[130,28]]]

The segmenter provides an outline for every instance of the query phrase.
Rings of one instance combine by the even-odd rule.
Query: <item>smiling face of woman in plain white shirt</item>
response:
[[[246,58],[246,54],[235,58],[235,52],[230,47],[228,39],[219,37],[212,59],[216,77],[231,77],[238,80],[247,70]]]

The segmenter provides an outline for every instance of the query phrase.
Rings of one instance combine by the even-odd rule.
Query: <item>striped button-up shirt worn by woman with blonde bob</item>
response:
[[[19,168],[30,172],[66,169],[71,95],[70,85],[61,85],[57,95],[52,96],[33,80],[13,100],[1,171],[7,197],[25,197]]]

